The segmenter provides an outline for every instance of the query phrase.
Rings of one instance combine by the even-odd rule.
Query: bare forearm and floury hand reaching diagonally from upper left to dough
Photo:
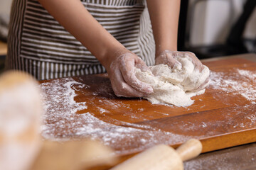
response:
[[[107,69],[117,96],[142,97],[153,92],[151,86],[139,81],[134,74],[136,67],[148,69],[146,64],[108,33],[80,0],[38,1]],[[118,50],[119,55],[113,55]]]

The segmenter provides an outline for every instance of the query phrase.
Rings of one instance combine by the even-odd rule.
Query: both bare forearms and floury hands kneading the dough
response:
[[[146,64],[108,33],[80,0],[38,1],[107,69],[117,96],[142,97],[153,93],[151,86],[139,81],[134,74],[136,67],[142,71],[149,69]],[[184,52],[176,52],[180,1],[147,0],[147,5],[156,43],[156,64],[178,67],[179,63],[173,56],[184,54]],[[193,53],[188,54],[191,55],[196,69],[201,71],[201,62]]]

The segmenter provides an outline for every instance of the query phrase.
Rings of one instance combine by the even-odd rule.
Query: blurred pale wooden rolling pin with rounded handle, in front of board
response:
[[[188,140],[176,150],[167,145],[156,145],[114,166],[111,170],[181,170],[183,161],[197,157],[201,152],[201,142],[195,139]]]

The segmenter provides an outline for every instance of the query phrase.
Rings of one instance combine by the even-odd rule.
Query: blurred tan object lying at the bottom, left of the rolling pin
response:
[[[45,141],[31,170],[84,170],[94,166],[113,166],[116,163],[117,157],[112,149],[100,142]]]

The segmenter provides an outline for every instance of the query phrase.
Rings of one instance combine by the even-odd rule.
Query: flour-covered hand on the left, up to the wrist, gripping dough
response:
[[[117,96],[142,97],[153,93],[149,84],[139,81],[135,76],[135,68],[142,72],[149,69],[137,55],[132,52],[124,52],[107,64],[112,89]]]

